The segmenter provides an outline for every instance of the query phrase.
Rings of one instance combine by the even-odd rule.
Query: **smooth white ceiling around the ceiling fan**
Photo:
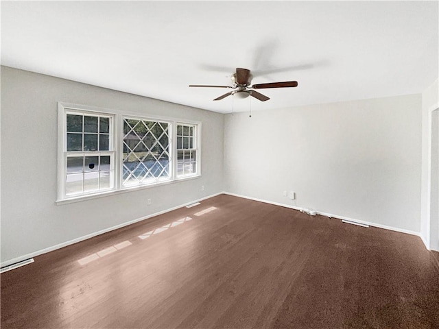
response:
[[[1,3],[3,65],[223,113],[229,90],[188,85],[298,81],[252,110],[422,93],[438,38],[438,1]]]

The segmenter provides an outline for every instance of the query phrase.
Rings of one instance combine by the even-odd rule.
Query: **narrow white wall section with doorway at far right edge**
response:
[[[439,108],[439,80],[436,80],[423,93],[423,147],[422,147],[422,192],[421,192],[421,228],[420,235],[430,249],[439,250],[439,217],[437,208],[439,200],[437,190],[439,182],[435,182],[438,167],[438,144],[435,138],[439,134],[437,109]],[[436,119],[436,121],[435,121]],[[436,142],[436,143],[435,143]],[[437,160],[436,160],[437,161]]]

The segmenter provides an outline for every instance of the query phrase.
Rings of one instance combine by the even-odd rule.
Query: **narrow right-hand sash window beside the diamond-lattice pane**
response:
[[[193,175],[198,172],[197,136],[195,125],[177,125],[177,176]]]

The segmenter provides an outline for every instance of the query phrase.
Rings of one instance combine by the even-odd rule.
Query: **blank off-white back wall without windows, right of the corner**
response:
[[[226,191],[420,230],[421,95],[253,112],[225,120]],[[296,192],[296,199],[283,191]]]

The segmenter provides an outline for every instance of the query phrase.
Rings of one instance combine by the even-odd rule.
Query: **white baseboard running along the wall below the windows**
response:
[[[13,258],[13,259],[10,259],[10,260],[5,260],[4,262],[0,263],[0,267],[6,267],[6,266],[9,266],[11,264],[19,263],[22,260],[26,260],[26,259],[29,259],[29,258],[33,258],[33,257],[39,256],[39,255],[42,255],[42,254],[46,254],[47,252],[53,252],[56,249],[60,249],[62,247],[67,247],[68,245],[73,245],[74,243],[78,243],[78,242],[84,241],[86,239],[93,238],[94,236],[98,236],[100,234],[104,234],[104,233],[107,233],[107,232],[110,232],[110,231],[113,231],[113,230],[117,230],[118,228],[123,228],[125,226],[137,223],[139,221],[144,221],[145,219],[149,219],[151,217],[162,215],[162,214],[165,214],[166,212],[170,212],[172,210],[176,210],[178,208],[182,208],[182,207],[188,206],[189,204],[193,204],[195,202],[200,202],[202,200],[209,199],[211,197],[216,197],[217,195],[220,195],[220,194],[223,194],[223,193],[222,192],[215,193],[213,195],[209,195],[207,197],[202,197],[201,199],[193,200],[191,202],[187,202],[186,204],[180,204],[179,206],[175,206],[175,207],[172,207],[172,208],[169,208],[169,209],[166,209],[166,210],[155,212],[154,214],[147,215],[145,217],[133,219],[132,221],[127,221],[125,223],[121,223],[119,225],[112,226],[110,228],[106,228],[106,229],[100,230],[98,232],[94,232],[94,233],[91,233],[91,234],[86,234],[84,236],[80,236],[79,238],[76,238],[76,239],[73,239],[73,240],[70,240],[70,241],[66,241],[66,242],[63,242],[63,243],[59,243],[58,245],[47,247],[45,249],[40,249],[40,250],[38,250],[36,252],[31,252],[30,254],[26,254],[26,255],[23,255],[23,256],[20,256],[20,257],[16,257],[16,258]]]

